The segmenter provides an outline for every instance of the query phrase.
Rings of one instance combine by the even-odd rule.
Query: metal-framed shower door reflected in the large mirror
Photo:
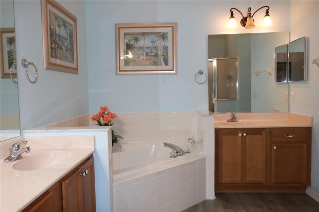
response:
[[[209,110],[227,104],[236,105],[238,100],[238,58],[208,59],[208,78],[212,79],[212,95],[209,95]],[[232,102],[232,103],[231,103]],[[232,110],[232,108],[228,108]]]

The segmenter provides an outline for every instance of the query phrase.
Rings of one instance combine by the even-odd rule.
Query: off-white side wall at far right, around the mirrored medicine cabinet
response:
[[[319,200],[319,68],[312,64],[319,56],[319,1],[291,1],[291,40],[308,37],[308,80],[290,83],[295,102],[292,112],[313,116],[312,186]],[[301,18],[303,17],[303,18]]]

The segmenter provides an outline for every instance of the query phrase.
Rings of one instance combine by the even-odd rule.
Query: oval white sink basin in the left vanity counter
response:
[[[68,151],[52,151],[21,158],[12,168],[19,171],[45,169],[67,161],[72,156]]]

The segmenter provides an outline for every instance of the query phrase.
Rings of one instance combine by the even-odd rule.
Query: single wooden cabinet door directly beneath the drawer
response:
[[[307,184],[307,143],[272,144],[272,184]]]

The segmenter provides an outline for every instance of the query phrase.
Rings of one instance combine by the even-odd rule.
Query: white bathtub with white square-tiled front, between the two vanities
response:
[[[113,153],[114,212],[179,212],[205,200],[206,158],[201,148],[187,141],[173,143],[190,146],[190,153],[170,158],[171,149],[163,143],[139,148],[122,143],[123,151]]]

